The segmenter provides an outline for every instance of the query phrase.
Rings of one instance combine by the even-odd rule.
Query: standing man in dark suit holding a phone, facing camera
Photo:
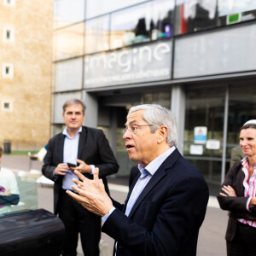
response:
[[[98,167],[107,191],[106,176],[118,172],[119,165],[102,130],[83,126],[84,102],[68,100],[62,108],[66,127],[49,140],[42,172],[55,182],[54,212],[59,214],[66,228],[62,255],[77,255],[80,233],[84,255],[95,256],[99,255],[101,218],[67,195],[66,190],[73,190],[73,177],[77,177],[67,163],[78,163],[74,169],[90,179]]]

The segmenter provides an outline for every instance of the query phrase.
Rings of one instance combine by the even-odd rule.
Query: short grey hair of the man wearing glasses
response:
[[[161,125],[166,125],[168,134],[166,143],[170,147],[177,145],[177,121],[170,109],[159,104],[143,104],[130,108],[128,115],[132,112],[144,110],[143,119],[150,125],[151,132],[154,133]]]

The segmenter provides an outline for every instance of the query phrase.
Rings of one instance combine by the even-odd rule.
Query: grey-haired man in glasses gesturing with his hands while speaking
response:
[[[177,123],[160,105],[139,105],[128,113],[126,151],[141,175],[125,204],[108,197],[94,172],[81,175],[67,194],[102,216],[102,231],[116,241],[114,255],[196,255],[198,232],[205,217],[209,191],[200,170],[176,148]]]

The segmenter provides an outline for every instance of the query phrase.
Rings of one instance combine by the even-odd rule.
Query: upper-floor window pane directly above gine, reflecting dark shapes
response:
[[[170,38],[174,1],[144,3],[111,15],[111,49]]]

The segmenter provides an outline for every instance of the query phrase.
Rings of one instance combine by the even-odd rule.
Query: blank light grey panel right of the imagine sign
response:
[[[175,42],[173,76],[181,79],[255,70],[255,41],[254,22],[199,33],[196,37],[179,37]]]

